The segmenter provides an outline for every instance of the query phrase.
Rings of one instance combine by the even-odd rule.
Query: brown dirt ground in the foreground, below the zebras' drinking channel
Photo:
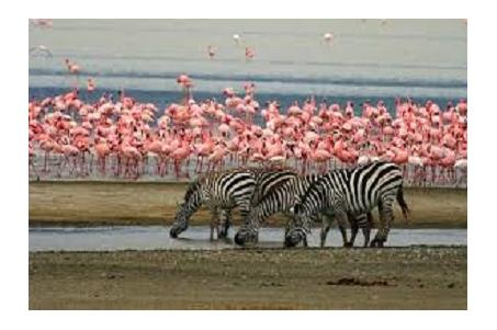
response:
[[[30,253],[30,309],[466,309],[467,250]]]

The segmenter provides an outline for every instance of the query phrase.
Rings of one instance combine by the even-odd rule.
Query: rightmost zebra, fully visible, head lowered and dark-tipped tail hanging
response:
[[[393,220],[393,203],[397,198],[407,220],[409,212],[403,193],[403,174],[399,167],[386,162],[372,162],[354,169],[336,170],[320,175],[307,189],[294,205],[292,212],[296,226],[285,236],[285,246],[293,247],[305,239],[309,231],[309,216],[323,213],[320,244],[324,247],[326,236],[334,218],[340,227],[343,242],[347,232],[344,221],[350,215],[363,215],[379,207],[380,228],[371,246],[383,247]]]

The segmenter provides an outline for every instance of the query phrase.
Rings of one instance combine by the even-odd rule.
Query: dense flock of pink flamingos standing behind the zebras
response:
[[[66,60],[68,71],[79,67]],[[308,98],[282,109],[261,105],[255,83],[223,90],[224,102],[196,102],[181,75],[179,103],[160,111],[118,93],[94,103],[78,89],[29,102],[30,174],[36,178],[190,178],[233,167],[284,164],[302,173],[353,167],[377,159],[400,164],[414,185],[465,183],[467,103],[327,104]],[[95,84],[89,79],[88,91]],[[262,118],[262,125],[255,120]]]

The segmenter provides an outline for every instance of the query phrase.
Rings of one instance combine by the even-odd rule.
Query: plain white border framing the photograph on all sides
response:
[[[492,133],[497,123],[493,48],[497,31],[492,7],[476,1],[326,1],[306,0],[296,4],[251,1],[14,1],[2,20],[2,152],[3,212],[2,315],[4,325],[45,328],[126,328],[155,326],[161,329],[255,327],[281,328],[382,328],[467,329],[495,323],[496,215],[493,190],[495,145]],[[492,3],[492,1],[489,1]],[[27,311],[27,19],[29,18],[468,18],[468,308],[470,312],[41,312]],[[494,69],[494,71],[492,71]],[[8,124],[11,123],[11,124]],[[495,139],[494,139],[495,140]],[[494,178],[493,178],[494,177]],[[494,203],[493,203],[494,202]],[[488,244],[490,243],[490,244]],[[257,318],[256,318],[257,316]],[[484,326],[485,327],[485,326]]]

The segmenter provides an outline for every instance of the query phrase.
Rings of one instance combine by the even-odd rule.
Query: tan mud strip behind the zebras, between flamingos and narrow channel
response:
[[[30,182],[30,226],[169,225],[185,191],[185,183]],[[466,228],[466,190],[405,189],[405,198],[411,223],[402,220],[397,205],[394,227]],[[208,218],[201,209],[191,224],[207,225]],[[283,221],[276,215],[268,225]]]

